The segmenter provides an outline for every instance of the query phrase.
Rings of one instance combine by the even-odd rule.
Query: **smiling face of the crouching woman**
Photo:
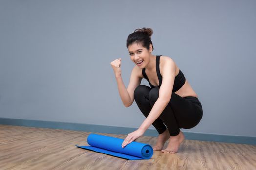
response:
[[[145,68],[149,63],[150,53],[152,52],[151,44],[149,50],[141,45],[141,43],[132,43],[128,46],[130,59],[138,67]]]

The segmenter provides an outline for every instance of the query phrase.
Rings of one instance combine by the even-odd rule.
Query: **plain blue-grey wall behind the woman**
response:
[[[139,127],[110,62],[127,87],[126,38],[142,27],[203,105],[186,132],[256,136],[255,0],[0,0],[0,117]]]

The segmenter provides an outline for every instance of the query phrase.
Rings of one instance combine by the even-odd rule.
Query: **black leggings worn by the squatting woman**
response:
[[[158,99],[159,89],[160,87],[150,88],[146,85],[139,85],[134,90],[134,99],[145,117],[149,115],[152,106]],[[162,134],[167,127],[170,136],[176,136],[180,133],[180,128],[195,127],[202,116],[203,109],[198,98],[193,96],[182,98],[172,93],[171,100],[152,125],[159,134]]]

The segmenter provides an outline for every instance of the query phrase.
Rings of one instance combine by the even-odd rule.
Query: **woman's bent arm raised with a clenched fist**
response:
[[[141,78],[138,76],[138,67],[135,66],[132,69],[131,76],[130,76],[130,83],[128,85],[128,88],[126,89],[124,82],[121,77],[121,58],[116,59],[111,62],[111,66],[114,70],[118,92],[121,97],[121,100],[125,107],[129,107],[132,105],[134,101],[134,90],[135,88],[140,85]]]

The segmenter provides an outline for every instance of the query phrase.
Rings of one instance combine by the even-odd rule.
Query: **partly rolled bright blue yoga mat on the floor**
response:
[[[76,146],[128,160],[150,159],[152,157],[153,148],[150,145],[133,141],[122,148],[123,141],[124,139],[116,137],[90,134],[87,137],[87,143],[90,146]]]

